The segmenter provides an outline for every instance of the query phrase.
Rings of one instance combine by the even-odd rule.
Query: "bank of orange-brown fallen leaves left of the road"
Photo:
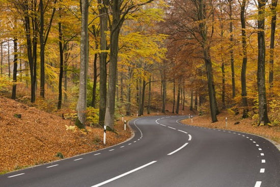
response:
[[[21,118],[14,117],[21,114]],[[38,165],[115,145],[130,138],[131,131],[116,123],[117,133],[107,131],[103,145],[103,128],[87,126],[87,132],[72,130],[70,120],[51,115],[0,97],[0,173]],[[67,130],[67,127],[69,130]]]

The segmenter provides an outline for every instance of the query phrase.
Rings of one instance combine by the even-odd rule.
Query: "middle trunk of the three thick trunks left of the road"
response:
[[[101,53],[99,54],[99,61],[100,61],[100,67],[99,67],[99,124],[101,126],[104,125],[104,119],[105,119],[105,111],[106,111],[106,93],[107,93],[107,52],[105,50],[107,49],[107,40],[106,40],[106,31],[107,28],[107,22],[108,22],[108,16],[107,16],[107,7],[109,5],[108,0],[98,0],[99,4],[102,4],[101,8],[99,9],[99,15],[100,15],[100,50]]]

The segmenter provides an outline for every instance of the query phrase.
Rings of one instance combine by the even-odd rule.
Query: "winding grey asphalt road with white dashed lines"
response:
[[[183,125],[183,118],[138,118],[127,142],[1,175],[0,186],[280,186],[280,152],[272,143]]]

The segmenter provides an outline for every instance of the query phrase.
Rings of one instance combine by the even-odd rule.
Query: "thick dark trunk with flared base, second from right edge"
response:
[[[258,95],[259,95],[259,124],[267,124],[269,122],[267,116],[266,104],[266,88],[265,88],[265,0],[258,0],[259,3],[259,19],[258,19]]]

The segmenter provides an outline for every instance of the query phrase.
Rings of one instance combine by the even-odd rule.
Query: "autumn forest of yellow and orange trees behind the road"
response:
[[[280,125],[277,0],[0,3],[2,96],[79,128],[186,108]]]

